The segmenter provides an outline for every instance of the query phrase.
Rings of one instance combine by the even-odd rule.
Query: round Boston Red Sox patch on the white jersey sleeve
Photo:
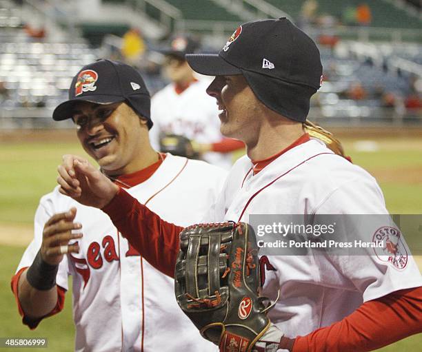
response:
[[[382,242],[382,247],[374,248],[382,262],[389,262],[396,269],[404,269],[408,264],[408,251],[403,243],[401,232],[396,227],[383,226],[375,231],[373,241]]]

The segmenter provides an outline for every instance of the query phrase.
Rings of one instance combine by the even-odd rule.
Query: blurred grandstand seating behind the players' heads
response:
[[[296,0],[92,3],[91,11],[78,12],[66,1],[0,1],[0,128],[53,125],[52,109],[66,99],[75,72],[97,57],[123,60],[121,37],[129,28],[143,34],[148,50],[131,63],[154,93],[166,83],[156,49],[171,34],[192,32],[205,50],[218,51],[239,23],[283,15],[302,25],[321,50],[325,83],[310,118],[336,125],[422,125],[421,10],[404,2],[368,2],[371,21],[365,25],[345,20],[361,4],[357,0],[318,0],[312,19],[303,17],[305,1]]]

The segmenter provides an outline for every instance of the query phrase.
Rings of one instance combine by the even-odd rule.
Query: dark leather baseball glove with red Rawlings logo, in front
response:
[[[252,351],[269,329],[268,299],[261,297],[254,230],[239,222],[192,225],[180,234],[177,302],[220,351]]]

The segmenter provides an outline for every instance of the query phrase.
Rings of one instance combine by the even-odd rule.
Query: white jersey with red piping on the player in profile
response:
[[[235,163],[205,222],[248,222],[251,214],[388,214],[376,180],[321,141],[288,150],[255,175],[251,169],[247,156]],[[422,285],[409,252],[397,253],[397,262],[378,258],[372,248],[367,253],[261,257],[261,265],[268,268],[269,261],[275,269],[265,271],[263,296],[276,300],[280,290],[271,321],[294,338],[345,318],[363,302]]]

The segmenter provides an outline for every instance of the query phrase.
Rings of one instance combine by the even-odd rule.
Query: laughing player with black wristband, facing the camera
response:
[[[108,60],[91,63],[74,76],[69,96],[53,118],[72,118],[102,175],[170,222],[201,219],[225,172],[152,149],[150,96],[136,70]],[[168,245],[161,243],[160,255]],[[63,309],[68,276],[76,351],[215,350],[181,313],[172,279],[140,256],[106,214],[56,188],[41,198],[34,240],[12,278],[23,324],[34,329]]]

